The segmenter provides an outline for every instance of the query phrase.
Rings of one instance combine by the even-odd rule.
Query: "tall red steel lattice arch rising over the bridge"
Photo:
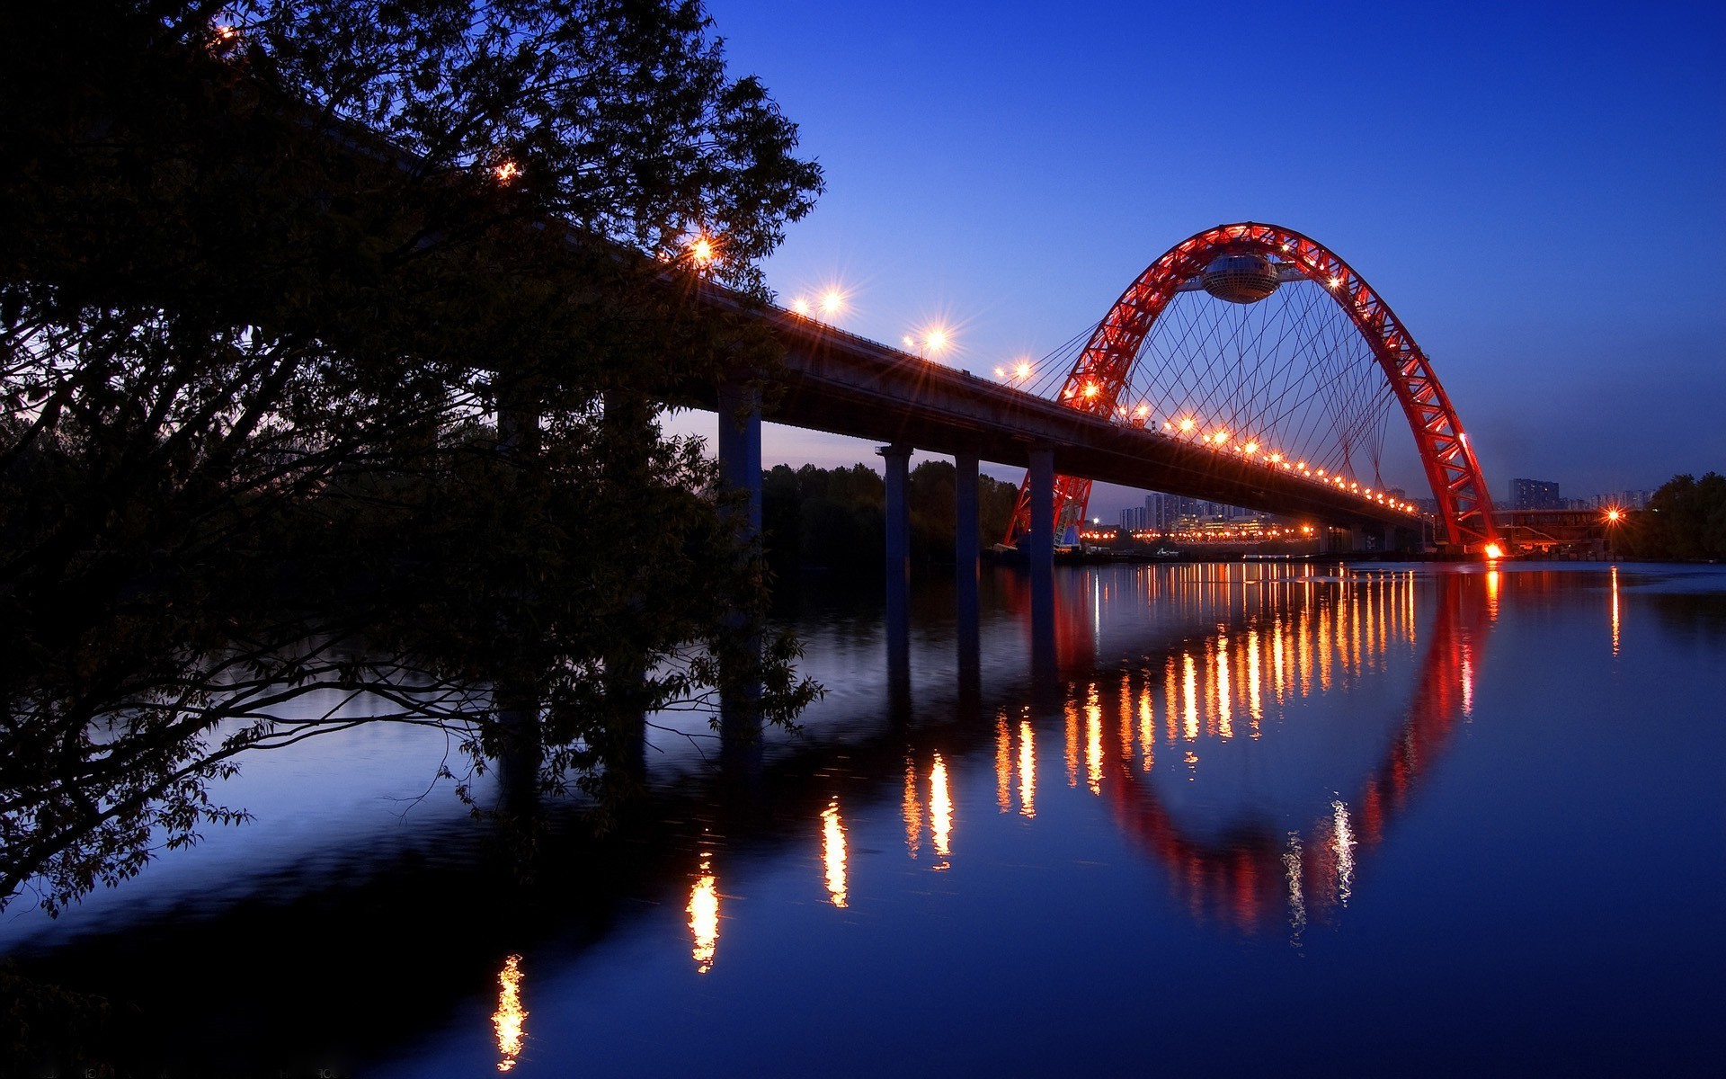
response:
[[[1469,435],[1462,430],[1457,409],[1450,404],[1438,375],[1433,373],[1431,361],[1391,312],[1389,304],[1348,262],[1317,240],[1289,228],[1253,221],[1219,224],[1170,247],[1110,307],[1079,354],[1060,399],[1082,413],[1113,416],[1144,335],[1174,299],[1175,290],[1200,276],[1212,259],[1229,254],[1257,254],[1288,262],[1331,293],[1372,347],[1396,401],[1402,402],[1448,542],[1460,549],[1479,549],[1496,542],[1486,476],[1481,475]],[[1084,518],[1089,497],[1091,480],[1055,478],[1056,537]],[[1029,527],[1029,489],[1020,489],[1018,508],[1008,525],[1008,542],[1024,535]]]

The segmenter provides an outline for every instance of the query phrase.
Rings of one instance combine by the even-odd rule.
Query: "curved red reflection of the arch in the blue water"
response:
[[[1474,666],[1491,622],[1484,606],[1465,596],[1462,575],[1438,573],[1434,580],[1438,615],[1414,699],[1384,761],[1350,803],[1334,803],[1307,834],[1239,823],[1201,837],[1163,806],[1131,760],[1115,758],[1105,770],[1103,796],[1117,820],[1169,867],[1174,889],[1194,913],[1217,913],[1250,931],[1281,922],[1286,906],[1305,920],[1310,910],[1346,899],[1355,848],[1384,837],[1471,706]]]

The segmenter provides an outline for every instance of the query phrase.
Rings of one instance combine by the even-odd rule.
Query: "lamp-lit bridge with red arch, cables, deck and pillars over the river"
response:
[[[1301,287],[1305,295],[1279,312],[1257,321],[1241,314]],[[1179,299],[1198,293],[1205,314],[1193,304],[1177,312]],[[1098,480],[1313,520],[1374,537],[1381,549],[1410,547],[1427,521],[1376,475],[1393,406],[1427,473],[1441,546],[1502,551],[1486,480],[1426,354],[1358,273],[1293,230],[1224,224],[1177,243],[1127,287],[1043,394],[808,314],[759,311],[711,287],[702,295],[766,319],[785,347],[775,375],[784,394],[770,420],[885,444],[892,577],[903,577],[908,554],[913,449],[954,457],[961,568],[977,565],[979,461],[1027,470],[1006,539],[1029,546],[1034,568],[1072,535]],[[1167,326],[1174,330],[1160,338]],[[727,482],[751,492],[759,527],[759,395],[739,380],[709,388],[706,401],[721,414]],[[1367,482],[1358,464],[1370,464]]]

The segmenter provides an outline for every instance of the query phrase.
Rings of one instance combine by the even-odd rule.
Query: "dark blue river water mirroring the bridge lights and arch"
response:
[[[666,720],[528,887],[375,730],[0,946],[140,1074],[1717,1074],[1726,571],[1056,585],[986,577],[975,656],[920,585],[908,670],[811,590],[803,732],[716,782]]]

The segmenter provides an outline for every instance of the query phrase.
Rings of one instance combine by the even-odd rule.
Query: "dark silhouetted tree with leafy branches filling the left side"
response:
[[[7,7],[0,905],[243,818],[242,751],[352,722],[318,689],[601,794],[644,710],[809,699],[652,420],[772,368],[651,256],[756,281],[794,147],[694,3]]]

